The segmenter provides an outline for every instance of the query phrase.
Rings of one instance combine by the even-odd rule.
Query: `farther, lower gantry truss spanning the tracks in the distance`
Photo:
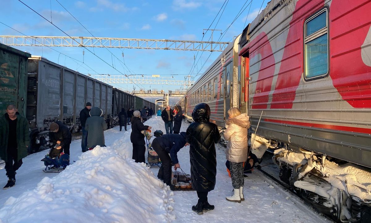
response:
[[[178,81],[171,77],[126,77],[125,75],[93,75],[92,78],[107,84],[162,84],[189,88],[194,81]]]

